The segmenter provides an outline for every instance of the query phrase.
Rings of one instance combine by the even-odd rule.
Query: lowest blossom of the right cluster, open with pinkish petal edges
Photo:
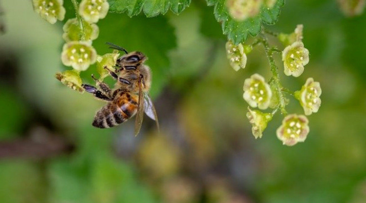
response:
[[[309,120],[304,115],[291,114],[286,116],[276,134],[284,145],[293,146],[304,142],[309,133]]]

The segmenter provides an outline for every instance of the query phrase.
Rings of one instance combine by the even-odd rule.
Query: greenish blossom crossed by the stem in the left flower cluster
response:
[[[85,41],[98,38],[99,28],[96,24],[90,24],[83,20],[83,26],[85,31]],[[66,42],[80,40],[80,34],[82,33],[82,30],[79,26],[78,19],[72,18],[67,20],[67,22],[64,24],[63,30],[64,34],[62,35],[62,38],[64,38]]]

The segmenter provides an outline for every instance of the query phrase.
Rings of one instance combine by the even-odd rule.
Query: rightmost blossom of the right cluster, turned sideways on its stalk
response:
[[[321,104],[321,88],[319,82],[314,82],[313,78],[307,78],[305,85],[300,91],[295,92],[295,97],[304,108],[305,115],[316,113]]]

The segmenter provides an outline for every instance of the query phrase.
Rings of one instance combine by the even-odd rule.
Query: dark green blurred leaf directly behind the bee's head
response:
[[[128,51],[142,51],[149,60],[152,77],[151,95],[154,97],[161,91],[168,79],[169,58],[167,53],[176,47],[174,30],[163,16],[146,18],[143,15],[128,18],[119,14],[108,14],[98,23],[100,28],[99,38],[93,42],[99,55],[111,53],[105,42],[112,42],[122,46]],[[89,68],[95,72],[95,69]],[[90,80],[87,72],[87,79]]]

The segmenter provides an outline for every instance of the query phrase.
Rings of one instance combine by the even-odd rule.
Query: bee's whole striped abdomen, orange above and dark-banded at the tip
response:
[[[109,128],[123,123],[137,112],[138,96],[122,92],[113,102],[108,103],[97,111],[93,126]]]

